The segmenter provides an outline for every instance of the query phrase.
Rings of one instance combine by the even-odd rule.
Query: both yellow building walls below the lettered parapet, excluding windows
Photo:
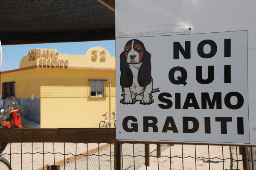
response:
[[[88,79],[107,79],[105,98],[89,97]],[[116,108],[115,71],[34,68],[9,72],[1,74],[1,91],[3,82],[12,81],[15,81],[18,101],[29,101],[32,94],[39,99],[40,113],[34,114],[40,116],[38,125],[43,128],[99,127],[99,122],[105,120],[102,115]],[[28,117],[24,119],[28,121]],[[34,122],[38,123],[38,120]]]

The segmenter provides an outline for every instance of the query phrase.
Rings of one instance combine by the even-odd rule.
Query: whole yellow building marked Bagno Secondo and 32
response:
[[[36,48],[19,69],[1,72],[1,92],[25,110],[24,127],[99,127],[115,111],[115,80],[115,57],[102,47],[85,55]]]

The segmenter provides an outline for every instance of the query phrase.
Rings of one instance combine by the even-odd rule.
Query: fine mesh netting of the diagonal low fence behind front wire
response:
[[[161,152],[165,151],[167,148],[169,148],[169,144],[161,144]],[[114,170],[114,149],[114,145],[112,145],[90,156],[83,157],[76,161],[70,161],[65,164],[65,167],[64,165],[61,166],[61,170]],[[121,151],[122,170],[138,170],[145,164],[144,144],[122,144]],[[156,156],[157,150],[153,150],[151,155]]]

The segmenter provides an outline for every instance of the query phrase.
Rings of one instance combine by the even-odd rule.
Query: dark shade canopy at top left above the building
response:
[[[115,39],[115,0],[1,0],[2,45]]]

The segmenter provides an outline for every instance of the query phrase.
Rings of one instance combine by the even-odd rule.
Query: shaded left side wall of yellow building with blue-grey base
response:
[[[40,69],[28,69],[20,71],[1,72],[0,89],[3,92],[2,83],[15,82],[15,97],[18,105],[24,111],[20,112],[23,127],[41,127],[41,107],[40,107]],[[30,97],[34,94],[35,98]],[[5,106],[4,101],[4,106]],[[8,110],[8,108],[5,108]]]

